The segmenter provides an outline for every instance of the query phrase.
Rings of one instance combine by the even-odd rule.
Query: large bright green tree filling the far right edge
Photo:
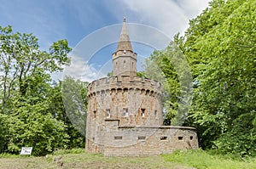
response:
[[[195,84],[188,123],[203,148],[255,155],[255,2],[210,4],[182,38]]]

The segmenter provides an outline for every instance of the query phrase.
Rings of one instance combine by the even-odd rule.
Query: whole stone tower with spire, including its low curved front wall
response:
[[[85,149],[104,155],[158,155],[198,147],[195,128],[163,127],[160,82],[137,76],[125,19],[113,76],[87,87]]]

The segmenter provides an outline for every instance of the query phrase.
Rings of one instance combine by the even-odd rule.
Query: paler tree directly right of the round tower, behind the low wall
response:
[[[182,125],[191,98],[192,76],[177,41],[146,60],[145,76],[162,83],[166,125]]]

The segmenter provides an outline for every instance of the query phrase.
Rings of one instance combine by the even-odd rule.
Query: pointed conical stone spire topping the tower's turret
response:
[[[130,37],[127,33],[125,22],[126,22],[126,19],[124,18],[122,31],[121,31],[121,34],[120,34],[120,37],[119,37],[118,48],[116,50],[117,52],[118,51],[124,51],[124,50],[132,52]]]

